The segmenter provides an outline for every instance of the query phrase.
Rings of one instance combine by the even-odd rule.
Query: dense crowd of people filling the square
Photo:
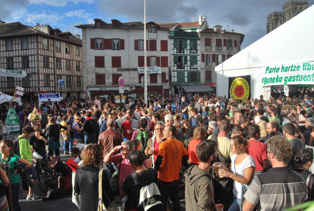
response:
[[[151,96],[147,103],[139,96],[123,104],[89,97],[15,105],[19,152],[13,154],[12,140],[0,145],[1,163],[10,164],[14,210],[20,210],[19,163],[31,180],[23,182],[23,198],[39,198],[34,151],[54,167],[57,180],[42,200],[74,192],[80,210],[97,208],[104,165],[104,204],[120,196],[129,211],[139,210],[139,178],[157,185],[163,211],[181,210],[179,188],[185,189],[186,210],[284,210],[311,201],[314,98],[286,97],[281,90],[273,96],[242,101],[187,94]],[[73,182],[72,170],[60,162],[60,135],[63,153],[81,166]],[[78,144],[86,144],[82,152]],[[0,177],[5,185],[1,171]]]

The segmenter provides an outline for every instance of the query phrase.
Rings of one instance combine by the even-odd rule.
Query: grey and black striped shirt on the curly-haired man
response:
[[[257,175],[244,194],[251,204],[261,201],[257,210],[284,210],[307,199],[307,187],[303,177],[291,167],[271,168]]]

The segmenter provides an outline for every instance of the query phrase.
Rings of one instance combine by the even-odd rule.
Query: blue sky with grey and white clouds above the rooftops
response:
[[[198,21],[206,15],[209,27],[222,25],[245,35],[241,48],[247,47],[266,34],[266,18],[281,11],[287,0],[146,0],[146,20],[156,23]],[[100,18],[121,22],[142,21],[144,0],[2,0],[0,19],[22,24],[49,24],[61,31],[78,33],[75,25],[91,24]],[[314,0],[308,0],[308,6]]]

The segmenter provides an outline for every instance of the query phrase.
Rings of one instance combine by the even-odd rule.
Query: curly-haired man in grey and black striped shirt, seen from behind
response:
[[[273,136],[267,142],[267,157],[273,168],[257,175],[244,194],[243,211],[284,210],[307,199],[307,187],[302,176],[287,166],[292,147],[285,137]]]

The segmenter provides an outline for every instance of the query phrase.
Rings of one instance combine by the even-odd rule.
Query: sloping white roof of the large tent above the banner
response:
[[[314,5],[215,67],[215,71],[314,61]]]

